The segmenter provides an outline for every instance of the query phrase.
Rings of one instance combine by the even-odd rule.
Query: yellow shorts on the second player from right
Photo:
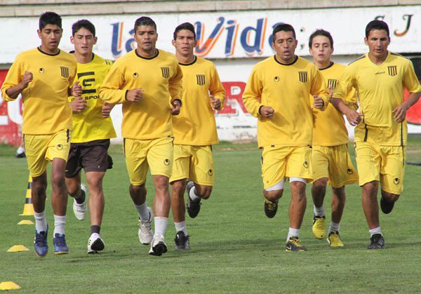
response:
[[[348,145],[313,146],[312,151],[313,180],[328,178],[329,185],[340,188],[343,185],[358,182]]]

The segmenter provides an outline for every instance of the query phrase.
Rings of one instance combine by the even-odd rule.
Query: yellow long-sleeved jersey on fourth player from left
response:
[[[218,144],[215,114],[209,94],[223,105],[225,89],[212,62],[197,58],[182,69],[182,107],[173,116],[174,143],[180,145]]]

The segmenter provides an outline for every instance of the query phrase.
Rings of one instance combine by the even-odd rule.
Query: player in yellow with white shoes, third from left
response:
[[[156,24],[148,17],[135,21],[137,48],[114,62],[100,88],[102,100],[123,103],[122,133],[129,192],[139,214],[139,239],[151,243],[149,254],[162,255],[167,246],[171,197],[168,179],[173,168],[173,123],[180,113],[182,72],[175,55],[156,49]],[[156,194],[155,233],[146,203],[145,180],[151,168]]]

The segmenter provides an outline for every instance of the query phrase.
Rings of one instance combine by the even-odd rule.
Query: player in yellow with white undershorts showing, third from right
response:
[[[265,213],[273,218],[283,185],[289,178],[291,201],[287,251],[307,250],[299,239],[305,213],[305,187],[312,180],[312,105],[326,109],[328,91],[319,69],[295,55],[298,41],[291,25],[273,30],[273,57],[259,62],[250,74],[243,101],[258,117],[258,145],[262,149],[263,195]]]

